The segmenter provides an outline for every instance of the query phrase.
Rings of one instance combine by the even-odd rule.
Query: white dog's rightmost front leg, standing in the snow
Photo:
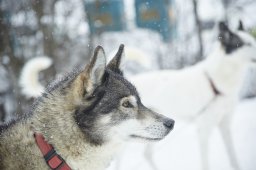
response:
[[[232,115],[227,115],[225,116],[222,121],[219,124],[220,132],[224,141],[224,144],[227,148],[227,154],[230,159],[231,166],[235,170],[240,170],[238,160],[236,158],[236,153],[235,153],[235,147],[234,143],[232,140],[232,134],[231,134],[231,121],[232,121]]]

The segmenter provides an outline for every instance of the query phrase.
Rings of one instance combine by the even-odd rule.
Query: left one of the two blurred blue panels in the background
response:
[[[85,0],[85,10],[92,34],[121,31],[125,28],[122,0]]]

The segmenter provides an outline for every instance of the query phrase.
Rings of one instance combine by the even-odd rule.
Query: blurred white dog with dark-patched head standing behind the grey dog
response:
[[[216,126],[222,134],[231,165],[239,170],[230,123],[240,98],[244,74],[250,66],[256,66],[254,38],[241,29],[232,32],[221,22],[219,44],[205,61],[182,70],[139,74],[131,81],[149,107],[164,114],[176,113],[176,118],[196,123],[203,170],[209,169],[208,140]]]

